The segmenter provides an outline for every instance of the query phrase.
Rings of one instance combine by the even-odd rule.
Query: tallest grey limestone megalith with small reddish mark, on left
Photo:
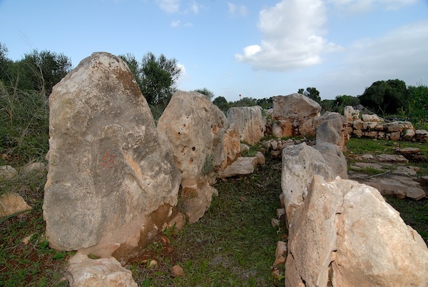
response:
[[[180,171],[128,66],[93,53],[54,86],[49,106],[50,246],[101,256],[136,248],[151,215],[176,205]]]

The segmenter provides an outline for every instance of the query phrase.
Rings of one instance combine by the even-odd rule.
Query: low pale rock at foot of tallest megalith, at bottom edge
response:
[[[76,253],[68,261],[67,278],[71,287],[137,287],[132,272],[115,258],[91,259]]]

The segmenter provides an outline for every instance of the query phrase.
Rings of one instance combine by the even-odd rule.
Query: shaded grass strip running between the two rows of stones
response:
[[[158,268],[141,262],[128,266],[138,285],[283,286],[270,270],[276,242],[286,233],[284,226],[270,224],[280,208],[280,171],[272,169],[280,161],[267,161],[250,176],[217,183],[219,196],[205,216],[171,236],[173,252],[165,253],[168,246],[163,246],[163,251],[152,253]],[[171,274],[175,264],[186,276]]]

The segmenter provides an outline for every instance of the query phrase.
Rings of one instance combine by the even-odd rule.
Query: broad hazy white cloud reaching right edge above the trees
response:
[[[379,39],[361,39],[347,51],[344,64],[320,76],[317,86],[336,94],[360,95],[374,81],[400,79],[415,86],[427,83],[428,20],[407,24]]]

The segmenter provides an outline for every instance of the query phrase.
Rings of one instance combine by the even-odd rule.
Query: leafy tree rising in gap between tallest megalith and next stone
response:
[[[148,104],[166,106],[176,91],[181,69],[176,59],[148,52],[141,60],[141,91]]]

